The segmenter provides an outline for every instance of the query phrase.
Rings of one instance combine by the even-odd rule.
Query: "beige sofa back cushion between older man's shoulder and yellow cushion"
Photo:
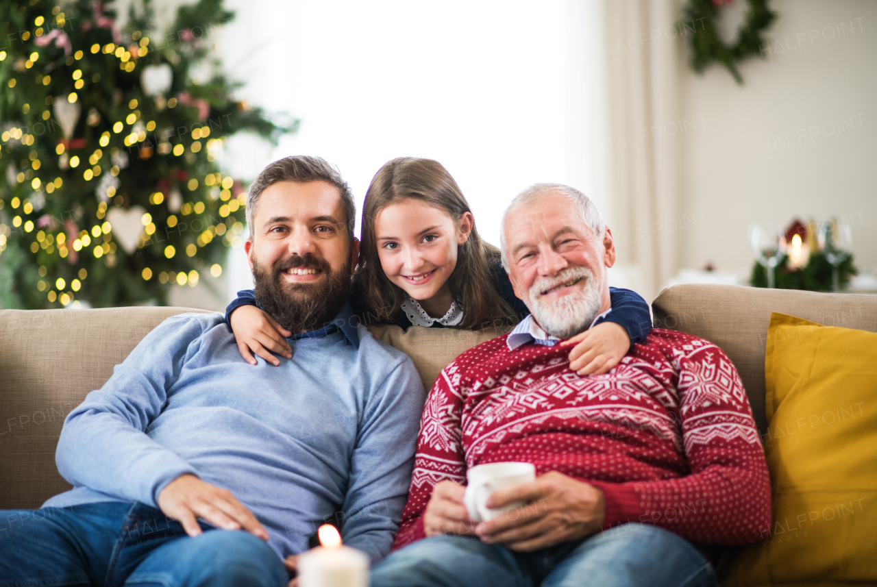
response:
[[[652,301],[655,326],[705,338],[731,358],[762,434],[767,430],[765,343],[771,312],[877,332],[877,295],[688,284],[667,287]]]

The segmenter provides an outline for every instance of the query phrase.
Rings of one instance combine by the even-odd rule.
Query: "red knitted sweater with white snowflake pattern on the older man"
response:
[[[417,458],[393,548],[424,538],[443,479],[476,464],[524,461],[585,481],[606,499],[603,529],[664,527],[688,541],[742,545],[771,522],[770,478],[731,360],[696,336],[652,329],[610,372],[570,371],[568,348],[506,336],[448,364],[424,407]]]

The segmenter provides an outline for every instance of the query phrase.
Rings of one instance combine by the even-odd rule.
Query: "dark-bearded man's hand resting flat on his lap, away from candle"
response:
[[[244,529],[253,536],[268,540],[259,520],[236,499],[232,492],[206,483],[195,475],[181,475],[165,485],[158,497],[161,512],[179,520],[186,534],[201,534],[198,518],[226,530]]]

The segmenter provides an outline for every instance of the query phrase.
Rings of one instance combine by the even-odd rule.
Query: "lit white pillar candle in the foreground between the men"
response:
[[[367,587],[368,557],[341,545],[338,530],[324,524],[317,530],[320,544],[298,557],[300,587]]]

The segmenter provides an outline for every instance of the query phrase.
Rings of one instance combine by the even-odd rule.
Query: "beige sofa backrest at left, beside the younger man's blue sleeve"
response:
[[[200,311],[0,310],[0,509],[67,491],[54,463],[64,418],[162,321]]]

